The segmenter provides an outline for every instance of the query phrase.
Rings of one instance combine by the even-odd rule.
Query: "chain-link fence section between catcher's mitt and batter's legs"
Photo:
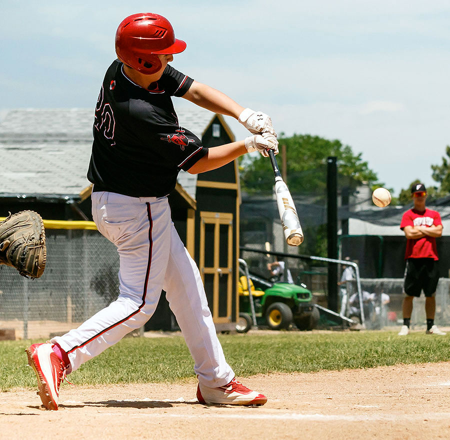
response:
[[[97,230],[47,229],[47,263],[38,279],[0,265],[0,329],[16,339],[63,334],[119,293],[115,246]]]

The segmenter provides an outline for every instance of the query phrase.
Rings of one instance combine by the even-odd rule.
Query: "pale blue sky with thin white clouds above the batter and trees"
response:
[[[434,184],[450,144],[448,0],[2,1],[0,112],[93,107],[118,23],[148,11],[187,42],[176,68],[277,131],[339,139],[395,192]]]

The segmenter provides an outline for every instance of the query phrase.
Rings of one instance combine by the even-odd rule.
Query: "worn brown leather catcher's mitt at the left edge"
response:
[[[0,222],[0,264],[15,267],[20,275],[38,278],[45,268],[45,229],[41,216],[25,210]]]

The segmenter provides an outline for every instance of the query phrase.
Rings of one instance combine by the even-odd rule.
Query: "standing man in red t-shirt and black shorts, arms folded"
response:
[[[400,229],[406,236],[406,269],[404,275],[403,325],[400,336],[409,333],[412,313],[412,300],[425,294],[426,333],[445,333],[434,325],[436,309],[437,281],[439,279],[436,237],[442,235],[442,221],[438,212],[425,207],[426,188],[423,183],[414,183],[411,187],[414,207],[403,214]]]

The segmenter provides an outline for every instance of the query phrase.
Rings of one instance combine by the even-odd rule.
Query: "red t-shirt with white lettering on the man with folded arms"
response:
[[[425,208],[424,212],[417,212],[414,208],[407,210],[401,217],[400,229],[405,226],[429,227],[442,224],[437,211]],[[421,238],[408,238],[404,258],[433,258],[438,260],[436,239],[425,235]]]

